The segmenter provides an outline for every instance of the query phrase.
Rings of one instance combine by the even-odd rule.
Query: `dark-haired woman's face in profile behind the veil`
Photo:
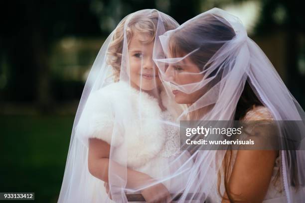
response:
[[[169,56],[170,57],[170,56]],[[191,83],[200,82],[203,74],[200,74],[199,68],[186,57],[177,64],[169,64],[165,71],[165,80],[175,85],[186,85]],[[191,104],[196,102],[202,95],[201,89],[186,94],[173,88],[172,93],[177,103]]]

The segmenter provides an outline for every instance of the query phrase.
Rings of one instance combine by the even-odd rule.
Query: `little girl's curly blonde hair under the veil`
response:
[[[151,36],[143,43],[150,43],[155,38],[159,12],[152,10],[152,12],[136,12],[126,16],[114,30],[112,40],[108,47],[106,62],[113,68],[114,80],[118,82],[120,79],[122,51],[124,41],[124,31],[126,31],[127,43],[129,44],[135,32],[148,34]],[[128,22],[127,25],[125,25]],[[162,19],[165,31],[176,28],[174,21],[169,19]],[[124,30],[125,29],[125,30]]]

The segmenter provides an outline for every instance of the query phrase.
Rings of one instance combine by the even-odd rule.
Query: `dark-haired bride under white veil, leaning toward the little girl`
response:
[[[175,102],[187,104],[180,119],[268,121],[284,138],[272,149],[195,150],[189,178],[206,203],[305,202],[305,112],[240,20],[213,8],[159,38],[154,61]],[[270,134],[261,136],[252,137]]]

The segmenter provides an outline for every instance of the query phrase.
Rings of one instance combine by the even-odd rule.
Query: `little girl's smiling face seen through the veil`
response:
[[[128,45],[130,80],[134,88],[151,91],[160,86],[158,69],[152,60],[153,40],[148,41],[151,36],[135,32]]]

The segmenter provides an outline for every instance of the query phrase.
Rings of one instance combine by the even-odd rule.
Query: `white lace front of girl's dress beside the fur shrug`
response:
[[[161,113],[161,117],[166,121],[173,121],[172,115],[169,111],[165,110]],[[164,124],[165,131],[165,144],[160,155],[164,158],[176,155],[180,152],[179,149],[179,128],[177,126],[172,126],[170,124]]]

